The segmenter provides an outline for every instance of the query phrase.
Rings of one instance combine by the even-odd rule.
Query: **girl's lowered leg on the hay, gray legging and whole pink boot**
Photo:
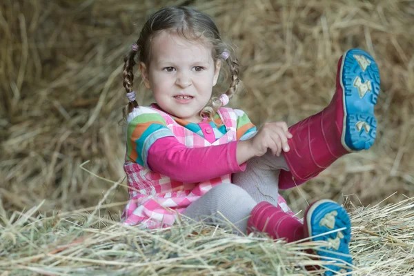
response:
[[[317,252],[321,257],[342,259],[348,264],[352,262],[351,257],[347,255],[349,253],[348,242],[351,239],[351,222],[346,211],[333,201],[322,200],[311,205],[306,210],[304,226],[279,206],[268,202],[256,204],[246,190],[234,184],[220,184],[190,204],[183,214],[197,221],[204,220],[208,224],[221,227],[228,226],[228,221],[230,221],[235,226],[232,229],[233,233],[239,233],[239,231],[248,233],[250,230],[257,229],[268,233],[270,237],[284,238],[288,242],[344,228],[329,235],[313,238],[313,240],[323,240],[333,244],[332,248]],[[335,265],[328,266],[328,268],[334,271],[342,269]],[[326,275],[330,274],[326,273]]]

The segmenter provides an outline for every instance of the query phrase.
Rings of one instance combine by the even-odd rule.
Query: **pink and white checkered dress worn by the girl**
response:
[[[188,148],[227,144],[236,140],[237,114],[231,108],[220,108],[217,112],[226,125],[226,134],[210,144],[188,128],[179,125],[170,115],[153,109],[161,115],[167,127],[172,130],[181,144]],[[218,184],[230,183],[231,175],[222,175],[215,179],[199,183],[183,183],[170,179],[166,175],[145,168],[126,158],[124,170],[128,178],[130,200],[122,214],[124,224],[141,228],[163,228],[172,226],[178,213],[182,213],[188,205],[199,199]],[[183,171],[183,173],[186,173]],[[279,206],[286,213],[292,213],[282,196],[278,198]]]

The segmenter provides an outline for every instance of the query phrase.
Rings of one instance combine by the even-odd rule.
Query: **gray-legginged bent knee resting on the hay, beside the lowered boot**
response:
[[[183,215],[223,228],[229,226],[230,221],[237,228],[232,229],[233,233],[246,233],[248,217],[255,206],[256,201],[245,190],[225,183],[215,186],[190,204]]]

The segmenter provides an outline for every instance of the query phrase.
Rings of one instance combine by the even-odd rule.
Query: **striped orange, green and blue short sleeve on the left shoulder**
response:
[[[126,155],[130,161],[148,168],[148,150],[164,137],[174,137],[159,113],[146,107],[135,108],[127,119]]]

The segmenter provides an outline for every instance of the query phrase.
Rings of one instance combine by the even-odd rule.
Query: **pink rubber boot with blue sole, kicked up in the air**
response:
[[[289,128],[293,138],[288,139],[290,151],[284,157],[290,171],[280,172],[279,188],[303,184],[339,157],[370,148],[377,132],[374,106],[379,92],[374,59],[363,50],[346,52],[338,62],[331,103]]]

